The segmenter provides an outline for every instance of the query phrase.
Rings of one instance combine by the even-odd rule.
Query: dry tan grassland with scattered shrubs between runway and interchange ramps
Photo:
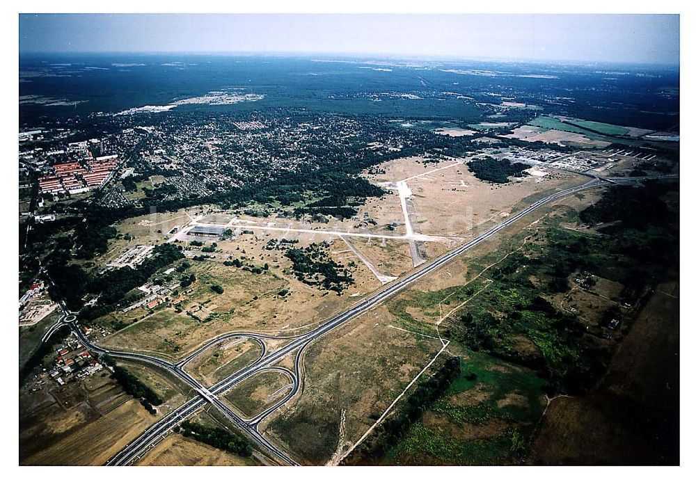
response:
[[[143,308],[127,314],[114,312],[97,319],[97,323],[109,326],[114,319],[126,323],[139,320],[101,339],[100,343],[156,353],[169,359],[180,358],[207,339],[231,331],[296,333],[347,307],[354,302],[351,295],[364,295],[381,285],[354,254],[344,251],[345,243],[336,241],[329,253],[338,262],[356,262],[353,273],[356,285],[341,296],[310,287],[294,277],[290,260],[283,251],[264,249],[270,238],[265,234],[258,237],[244,234],[233,241],[221,241],[221,253],[215,254],[219,258],[190,261],[186,274],[196,275],[196,282],[187,289],[178,289],[185,297],[177,305],[180,312],[168,304],[152,313]],[[252,273],[223,265],[222,260],[228,257],[257,266],[267,263],[269,269]],[[223,293],[216,294],[212,285],[223,287]],[[283,289],[290,294],[280,296],[278,293]]]

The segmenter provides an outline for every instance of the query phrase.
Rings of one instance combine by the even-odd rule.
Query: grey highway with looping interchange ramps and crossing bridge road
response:
[[[671,179],[675,177],[676,175],[664,175],[658,178]],[[113,456],[106,463],[106,465],[129,465],[133,463],[134,461],[136,461],[136,459],[141,458],[141,456],[143,456],[143,454],[145,454],[145,452],[148,451],[148,449],[156,445],[157,442],[164,438],[164,436],[166,436],[174,426],[182,422],[187,417],[190,417],[191,415],[196,413],[196,411],[201,407],[205,406],[206,403],[212,403],[212,405],[216,407],[220,411],[220,413],[222,413],[227,419],[229,419],[230,422],[235,424],[240,431],[246,433],[248,438],[251,438],[251,440],[253,440],[253,442],[255,442],[262,451],[275,458],[275,460],[278,461],[278,463],[285,465],[297,465],[298,463],[296,463],[296,461],[294,461],[290,457],[290,455],[287,454],[287,452],[273,445],[271,442],[269,442],[269,440],[267,440],[267,438],[264,438],[264,436],[258,431],[258,426],[264,419],[266,419],[272,413],[276,412],[278,408],[285,405],[285,403],[290,401],[290,399],[292,399],[300,391],[302,384],[302,353],[311,342],[314,342],[316,339],[326,335],[335,328],[342,326],[347,321],[350,321],[351,319],[358,317],[358,315],[367,312],[367,310],[370,310],[372,307],[379,305],[379,303],[386,301],[387,298],[394,296],[395,294],[397,294],[397,292],[402,291],[404,288],[408,287],[409,285],[412,285],[414,282],[417,282],[421,278],[425,277],[425,275],[428,275],[429,273],[443,266],[447,262],[450,262],[450,260],[454,259],[454,257],[457,257],[458,255],[461,255],[467,250],[470,250],[470,248],[477,246],[479,243],[486,241],[493,235],[500,232],[500,230],[505,229],[509,225],[512,225],[512,223],[518,221],[524,216],[530,214],[532,211],[539,209],[539,207],[546,205],[549,202],[553,202],[554,200],[558,200],[567,195],[571,195],[573,193],[583,191],[586,189],[605,186],[611,183],[623,184],[629,182],[640,182],[643,179],[645,178],[619,177],[605,179],[593,177],[592,179],[590,179],[590,181],[585,182],[584,184],[574,186],[570,189],[557,191],[556,193],[548,195],[545,198],[542,198],[541,200],[537,200],[537,202],[534,202],[532,205],[518,211],[516,214],[507,217],[505,221],[491,227],[486,232],[483,232],[482,234],[478,235],[477,237],[475,237],[475,239],[472,239],[467,243],[464,243],[463,245],[454,248],[453,250],[450,250],[448,253],[445,253],[440,257],[433,259],[431,262],[424,264],[420,269],[413,271],[409,275],[395,280],[388,286],[383,287],[383,289],[377,291],[375,294],[372,294],[372,296],[364,298],[363,300],[350,307],[348,310],[345,310],[344,312],[335,315],[335,317],[332,317],[328,321],[322,323],[322,325],[302,335],[296,335],[294,337],[272,337],[269,335],[261,335],[258,333],[227,333],[225,335],[221,335],[212,339],[207,344],[201,346],[196,351],[193,351],[179,362],[173,364],[171,362],[167,362],[166,360],[162,360],[161,358],[152,357],[150,355],[143,355],[141,353],[134,352],[112,351],[93,344],[92,342],[90,342],[88,338],[86,338],[81,328],[79,328],[75,315],[72,312],[66,310],[65,305],[63,305],[62,302],[58,302],[58,305],[60,305],[61,309],[63,310],[63,319],[61,319],[60,322],[56,323],[56,325],[49,329],[49,331],[44,337],[44,340],[46,340],[50,335],[52,335],[52,333],[58,330],[58,328],[68,325],[70,326],[70,328],[72,328],[73,333],[80,339],[80,341],[96,353],[111,355],[114,358],[136,360],[139,362],[144,362],[148,365],[159,367],[160,369],[164,369],[170,372],[171,374],[177,376],[182,381],[190,385],[193,388],[193,390],[196,390],[196,392],[198,393],[196,397],[189,399],[182,406],[179,406],[171,413],[161,418],[159,422],[150,426],[150,428],[148,428],[145,432],[139,435],[138,438],[130,442],[129,445],[127,445],[124,449],[118,452],[118,454]],[[257,360],[255,360],[255,362],[251,363],[251,365],[248,365],[240,369],[239,371],[235,372],[235,374],[232,374],[228,378],[225,378],[223,381],[220,381],[219,383],[216,383],[216,385],[213,385],[209,388],[206,388],[205,386],[201,385],[195,378],[193,378],[191,375],[187,373],[187,371],[185,371],[184,367],[186,367],[186,365],[189,362],[191,362],[191,360],[196,358],[198,355],[205,352],[207,349],[214,346],[215,344],[219,344],[220,342],[225,342],[226,340],[233,338],[251,339],[253,342],[257,342],[261,348],[260,357]],[[267,349],[267,346],[264,343],[265,339],[281,338],[287,339],[287,344],[285,344],[284,346],[280,346],[280,348],[274,351],[269,351]],[[287,355],[290,355],[292,353],[294,353],[295,355],[294,368],[292,371],[290,369],[285,369],[284,367],[275,366],[275,364],[278,363],[281,359],[285,358]],[[245,381],[246,379],[251,378],[256,374],[259,374],[262,371],[268,370],[281,371],[283,374],[286,374],[292,381],[292,389],[288,394],[285,395],[285,397],[280,399],[280,401],[276,402],[273,406],[264,410],[262,413],[255,415],[255,417],[251,419],[244,419],[241,416],[239,416],[239,414],[235,413],[230,407],[228,407],[226,403],[220,400],[219,397],[225,394],[225,392],[227,392],[228,390],[230,390],[230,388],[234,387],[235,385],[238,385],[242,381]]]

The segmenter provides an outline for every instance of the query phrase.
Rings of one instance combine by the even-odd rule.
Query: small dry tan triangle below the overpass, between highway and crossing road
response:
[[[226,451],[196,442],[173,433],[148,451],[134,465],[156,466],[232,466],[258,465],[254,458],[229,454]]]

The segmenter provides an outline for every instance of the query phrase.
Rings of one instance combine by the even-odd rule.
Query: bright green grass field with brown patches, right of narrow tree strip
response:
[[[544,381],[465,351],[459,378],[379,461],[381,465],[517,463],[543,410]]]

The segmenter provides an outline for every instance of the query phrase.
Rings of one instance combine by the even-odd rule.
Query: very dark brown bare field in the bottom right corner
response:
[[[544,465],[679,463],[679,285],[659,285],[583,398],[551,402],[530,461]]]

